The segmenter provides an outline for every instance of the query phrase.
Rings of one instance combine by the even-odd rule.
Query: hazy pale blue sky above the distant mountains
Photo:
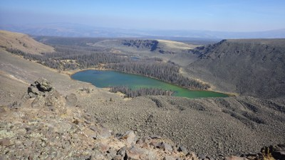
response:
[[[284,0],[1,0],[0,24],[265,31],[285,28]]]

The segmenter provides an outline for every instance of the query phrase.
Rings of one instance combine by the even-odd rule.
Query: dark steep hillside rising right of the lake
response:
[[[257,97],[285,95],[285,39],[227,40],[193,50],[187,72],[216,89]]]

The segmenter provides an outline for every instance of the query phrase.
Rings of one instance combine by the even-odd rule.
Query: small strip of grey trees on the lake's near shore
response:
[[[162,90],[159,88],[140,88],[132,90],[130,87],[125,86],[111,86],[110,92],[122,92],[125,97],[138,97],[143,95],[172,95],[174,92],[171,90]]]

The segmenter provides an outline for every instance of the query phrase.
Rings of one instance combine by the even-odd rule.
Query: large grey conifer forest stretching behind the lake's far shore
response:
[[[102,65],[105,69],[117,70],[124,73],[134,73],[157,78],[181,87],[207,90],[209,85],[194,79],[186,78],[179,73],[180,67],[171,62],[162,62],[160,58],[132,59],[128,55],[110,53],[93,47],[83,46],[54,46],[56,52],[35,55],[21,50],[6,48],[10,53],[35,60],[42,65],[57,70],[75,70],[93,68]]]

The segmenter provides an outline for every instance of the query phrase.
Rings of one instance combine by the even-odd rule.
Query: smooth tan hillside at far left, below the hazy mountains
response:
[[[0,31],[0,47],[17,49],[32,54],[51,53],[54,51],[53,47],[38,43],[26,34],[9,31]]]

